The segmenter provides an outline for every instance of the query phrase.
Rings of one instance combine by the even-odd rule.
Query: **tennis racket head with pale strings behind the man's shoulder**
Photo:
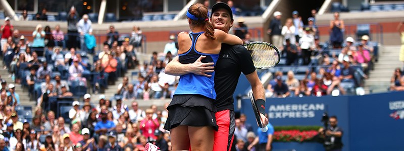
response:
[[[278,49],[268,42],[256,41],[244,44],[252,57],[254,66],[260,68],[270,68],[280,61]]]

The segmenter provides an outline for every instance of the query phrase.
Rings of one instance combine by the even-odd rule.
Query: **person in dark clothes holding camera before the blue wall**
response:
[[[336,116],[331,116],[328,119],[327,129],[324,128],[319,129],[319,134],[321,137],[324,137],[324,148],[327,151],[339,151],[342,150],[342,134],[343,130],[341,127],[338,127],[338,120]]]

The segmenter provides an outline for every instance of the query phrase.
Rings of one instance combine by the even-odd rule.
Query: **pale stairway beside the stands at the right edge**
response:
[[[365,80],[367,94],[387,92],[394,69],[403,67],[403,63],[398,60],[400,45],[379,48],[379,60],[375,63],[375,69],[370,71],[369,79]]]

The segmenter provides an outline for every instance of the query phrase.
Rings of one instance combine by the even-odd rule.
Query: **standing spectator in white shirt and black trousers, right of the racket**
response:
[[[310,28],[305,28],[305,34],[302,35],[301,39],[299,40],[299,44],[303,64],[308,65],[312,60],[312,50],[315,48],[314,36],[310,33]]]

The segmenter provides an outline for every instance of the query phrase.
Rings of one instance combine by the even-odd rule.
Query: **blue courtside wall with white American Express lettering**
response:
[[[237,103],[235,101],[236,108]],[[256,123],[249,99],[241,100],[240,105],[238,111],[247,115],[247,123]],[[404,148],[404,92],[365,96],[268,98],[265,109],[274,126],[322,126],[324,112],[329,116],[336,115],[338,126],[343,129],[342,150]],[[255,124],[252,126],[258,128]]]

